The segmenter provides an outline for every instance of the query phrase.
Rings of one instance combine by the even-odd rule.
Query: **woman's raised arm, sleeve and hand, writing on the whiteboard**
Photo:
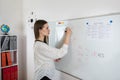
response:
[[[40,42],[38,42],[35,49],[41,55],[51,58],[51,59],[62,58],[68,52],[68,44],[70,41],[69,40],[70,36],[71,36],[71,29],[66,28],[64,44],[60,49],[53,48],[51,46],[48,46],[47,44],[40,43]]]

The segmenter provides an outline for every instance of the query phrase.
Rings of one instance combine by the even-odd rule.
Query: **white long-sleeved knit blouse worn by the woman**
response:
[[[63,44],[60,49],[57,49],[43,42],[36,41],[34,44],[34,80],[40,80],[44,76],[49,77],[51,80],[55,80],[56,69],[54,60],[65,56],[67,51],[68,45],[66,44]]]

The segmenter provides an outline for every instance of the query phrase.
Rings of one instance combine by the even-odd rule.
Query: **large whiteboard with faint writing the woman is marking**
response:
[[[63,22],[49,23],[53,47],[62,44],[66,26],[72,29],[68,54],[56,68],[83,80],[120,80],[120,14]]]

